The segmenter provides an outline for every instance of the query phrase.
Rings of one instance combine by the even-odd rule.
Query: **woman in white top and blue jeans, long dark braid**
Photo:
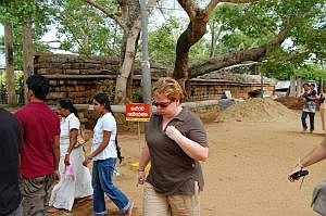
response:
[[[116,122],[112,114],[106,94],[99,93],[93,98],[93,110],[99,116],[93,128],[91,153],[84,165],[92,162],[92,188],[95,215],[106,215],[104,194],[118,207],[122,214],[130,216],[134,203],[113,185],[113,173],[117,158],[122,161],[116,141]]]

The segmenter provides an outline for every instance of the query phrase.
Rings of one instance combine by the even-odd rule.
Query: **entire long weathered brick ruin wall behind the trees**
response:
[[[99,84],[103,80],[115,80],[120,62],[114,58],[82,56],[68,54],[39,53],[35,55],[35,73],[46,76],[50,81],[48,103],[54,105],[59,99],[71,98],[75,104],[90,104],[92,97],[99,91]],[[173,68],[160,64],[151,64],[152,80],[159,77],[172,76]],[[133,89],[140,88],[141,65],[136,62],[134,65]],[[239,81],[191,79],[190,90],[187,92],[190,101],[204,101],[221,99],[224,91],[231,92],[234,98],[248,98],[248,92],[260,89],[260,84],[248,84]],[[267,94],[273,96],[274,85],[264,84]],[[80,122],[87,128],[93,125],[95,116],[87,107],[79,105]],[[212,113],[217,113],[217,105],[208,107]],[[200,109],[201,111],[203,109]],[[195,110],[197,112],[197,110]],[[200,112],[199,112],[200,113]],[[135,124],[126,123],[123,116],[116,116],[121,125],[127,128],[135,127]],[[134,128],[135,129],[135,128]]]

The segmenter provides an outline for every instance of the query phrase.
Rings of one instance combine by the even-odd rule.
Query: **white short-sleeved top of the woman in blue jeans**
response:
[[[115,148],[116,122],[111,113],[105,113],[98,119],[97,125],[93,128],[91,152],[95,152],[103,141],[104,130],[111,132],[109,144],[101,153],[93,157],[93,161],[117,157]]]

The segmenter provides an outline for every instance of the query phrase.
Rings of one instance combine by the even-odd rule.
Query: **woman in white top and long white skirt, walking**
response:
[[[91,176],[89,169],[83,166],[83,147],[76,147],[80,122],[77,110],[70,99],[61,99],[57,105],[61,120],[60,132],[60,182],[54,186],[49,205],[49,213],[60,208],[72,211],[75,199],[92,199]],[[74,179],[65,175],[66,167],[73,166]],[[83,200],[80,200],[83,201]]]

